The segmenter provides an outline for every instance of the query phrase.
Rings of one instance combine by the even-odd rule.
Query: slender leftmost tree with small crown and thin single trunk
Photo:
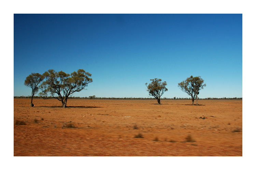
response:
[[[34,106],[34,104],[32,103],[33,101],[33,97],[35,94],[37,94],[38,92],[38,85],[40,84],[41,81],[43,81],[44,76],[39,74],[39,73],[31,73],[24,82],[24,85],[27,87],[30,87],[32,89],[32,93],[31,93],[31,103],[30,106]]]

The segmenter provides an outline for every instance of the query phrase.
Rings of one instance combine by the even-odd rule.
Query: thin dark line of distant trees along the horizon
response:
[[[31,96],[14,96],[14,98],[31,98]],[[42,98],[41,96],[33,96],[33,98]],[[91,99],[89,96],[88,97],[74,97],[71,96],[69,97],[70,99]],[[153,100],[155,98],[150,98],[150,97],[94,97],[93,99],[101,99],[101,100]],[[161,98],[163,100],[191,100],[189,97],[173,97],[173,98],[167,98],[163,97]],[[198,98],[199,100],[230,100],[230,99],[239,99],[242,100],[242,97],[222,97],[222,98],[216,98],[216,97],[207,97],[207,98]]]

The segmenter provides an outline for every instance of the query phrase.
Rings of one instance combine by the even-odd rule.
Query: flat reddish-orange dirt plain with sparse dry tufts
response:
[[[14,99],[14,156],[242,156],[242,100],[33,103]]]

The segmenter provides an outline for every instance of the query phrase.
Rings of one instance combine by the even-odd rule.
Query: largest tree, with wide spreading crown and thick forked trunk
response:
[[[71,74],[63,71],[55,72],[49,69],[44,74],[45,81],[42,82],[40,88],[42,92],[40,95],[44,99],[57,98],[62,103],[62,107],[67,105],[67,99],[75,92],[80,92],[88,86],[88,83],[93,82],[91,74],[85,72],[83,69],[77,70]]]

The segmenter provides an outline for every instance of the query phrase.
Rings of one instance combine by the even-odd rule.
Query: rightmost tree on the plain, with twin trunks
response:
[[[199,90],[203,89],[203,87],[206,86],[206,84],[203,84],[204,80],[198,76],[198,77],[193,77],[190,76],[186,80],[183,80],[182,82],[178,83],[178,87],[183,92],[186,92],[188,95],[191,96],[192,99],[192,105],[194,105],[194,100],[196,97],[196,102],[197,102],[197,96],[199,94]],[[198,103],[197,103],[198,105]]]

